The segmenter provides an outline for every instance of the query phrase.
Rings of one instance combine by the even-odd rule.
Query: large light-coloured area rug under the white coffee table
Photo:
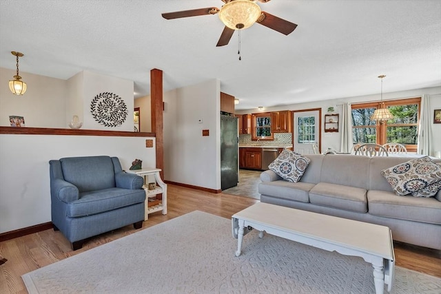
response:
[[[29,293],[375,293],[372,266],[194,211],[22,276]],[[387,291],[385,291],[387,293]],[[392,293],[441,293],[441,279],[396,267]]]

